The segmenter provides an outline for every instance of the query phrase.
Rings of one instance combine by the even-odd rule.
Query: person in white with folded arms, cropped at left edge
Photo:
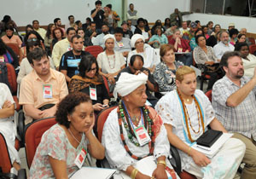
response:
[[[6,84],[0,83],[0,132],[5,138],[11,165],[20,170],[20,157],[15,149],[15,101]]]

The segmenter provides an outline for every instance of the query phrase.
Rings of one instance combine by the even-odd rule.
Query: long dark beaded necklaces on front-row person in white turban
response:
[[[119,118],[120,137],[121,137],[121,140],[123,141],[123,144],[125,146],[126,152],[129,153],[129,155],[133,159],[140,160],[140,159],[143,159],[143,158],[142,157],[137,157],[136,155],[131,153],[129,147],[127,146],[127,144],[125,142],[125,136],[124,136],[124,133],[123,133],[122,123],[124,123],[125,130],[127,132],[127,136],[129,138],[129,140],[136,147],[141,147],[140,144],[137,141],[134,140],[134,138],[136,138],[136,136],[135,136],[133,130],[131,129],[130,121],[127,119],[126,113],[128,113],[128,112],[124,109],[124,105],[125,105],[125,103],[123,101],[120,101],[119,102],[119,107],[117,108],[118,118]],[[148,142],[149,153],[147,155],[147,156],[150,156],[150,155],[153,155],[153,152],[154,152],[154,141],[155,141],[154,132],[152,131],[153,120],[151,118],[149,118],[148,108],[143,107],[142,111],[143,111],[143,118],[144,118],[145,129],[147,129],[147,125],[148,125],[148,136],[151,139],[151,141]],[[145,156],[145,157],[147,157],[147,156]]]

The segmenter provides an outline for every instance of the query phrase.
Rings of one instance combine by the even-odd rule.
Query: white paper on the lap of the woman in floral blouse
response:
[[[115,173],[114,169],[104,169],[96,167],[82,167],[76,171],[70,179],[84,179],[84,178],[101,178],[108,179]]]

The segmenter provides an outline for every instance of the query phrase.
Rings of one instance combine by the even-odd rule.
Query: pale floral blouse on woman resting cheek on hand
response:
[[[49,164],[49,156],[54,159],[66,161],[67,175],[71,176],[73,172],[79,170],[77,165],[74,164],[77,155],[80,153],[82,147],[87,150],[88,144],[89,141],[83,134],[79,146],[77,148],[73,147],[61,126],[59,124],[53,125],[42,136],[32,161],[29,178],[55,178],[54,172]]]

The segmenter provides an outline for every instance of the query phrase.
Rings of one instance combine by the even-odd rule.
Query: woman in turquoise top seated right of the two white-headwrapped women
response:
[[[160,45],[168,43],[168,39],[160,27],[156,27],[154,31],[154,35],[149,39],[148,44],[155,49],[159,49]]]

